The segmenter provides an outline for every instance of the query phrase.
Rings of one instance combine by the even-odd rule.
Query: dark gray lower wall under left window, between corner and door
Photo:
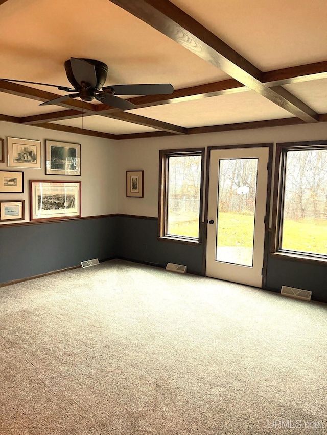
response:
[[[118,257],[158,266],[166,266],[167,263],[183,264],[188,266],[188,271],[202,274],[203,246],[157,240],[157,219],[121,216],[118,233]]]

